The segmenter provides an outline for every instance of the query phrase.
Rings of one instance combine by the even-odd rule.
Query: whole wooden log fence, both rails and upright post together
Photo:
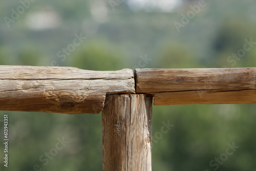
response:
[[[130,69],[0,66],[0,110],[98,114],[103,170],[151,170],[152,102],[256,103],[256,68]]]

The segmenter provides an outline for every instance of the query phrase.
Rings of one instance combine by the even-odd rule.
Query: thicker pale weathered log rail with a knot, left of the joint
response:
[[[98,114],[106,93],[134,94],[134,84],[130,69],[0,66],[0,110]]]

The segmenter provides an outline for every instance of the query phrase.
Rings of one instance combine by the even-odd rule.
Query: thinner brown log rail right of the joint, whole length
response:
[[[256,68],[136,69],[136,93],[155,105],[256,103]]]

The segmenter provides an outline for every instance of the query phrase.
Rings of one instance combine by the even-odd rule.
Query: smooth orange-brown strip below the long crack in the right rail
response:
[[[256,90],[224,91],[188,91],[157,93],[154,105],[174,104],[256,104]]]

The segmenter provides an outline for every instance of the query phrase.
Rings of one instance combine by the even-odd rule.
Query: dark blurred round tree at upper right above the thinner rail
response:
[[[244,45],[248,42],[246,40],[255,42],[256,33],[254,24],[245,20],[245,18],[227,18],[220,27],[216,40],[214,41],[213,46],[216,57],[212,60],[217,63],[219,62],[217,64],[219,67],[225,64],[228,64],[225,65],[228,68],[248,67],[248,63],[251,63],[253,67],[255,57],[248,57],[248,55],[251,54],[250,51],[245,51],[246,53],[242,57],[238,55],[239,50],[244,50]],[[250,48],[250,46],[251,45],[247,45],[246,48]],[[238,57],[233,57],[233,53],[237,54]]]

